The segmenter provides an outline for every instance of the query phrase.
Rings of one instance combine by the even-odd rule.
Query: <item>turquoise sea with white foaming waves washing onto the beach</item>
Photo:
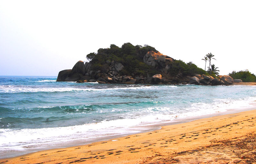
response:
[[[254,108],[255,86],[125,85],[0,76],[0,158]],[[150,125],[150,126],[148,126]]]

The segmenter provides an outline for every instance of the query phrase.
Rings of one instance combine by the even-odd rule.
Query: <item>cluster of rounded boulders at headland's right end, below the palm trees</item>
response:
[[[234,80],[228,75],[220,75],[219,78],[214,78],[212,76],[196,74],[189,80],[190,84],[196,85],[233,85]]]

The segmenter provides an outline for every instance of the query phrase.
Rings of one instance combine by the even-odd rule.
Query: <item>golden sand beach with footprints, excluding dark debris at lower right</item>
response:
[[[34,152],[2,159],[0,163],[159,163],[160,161],[184,163],[186,160],[192,161],[196,157],[195,153],[211,149],[214,145],[220,146],[223,142],[232,143],[237,142],[237,139],[255,136],[255,123],[256,110],[251,110],[167,125],[156,131],[89,145]],[[228,156],[226,149],[222,151],[218,148],[218,150],[220,153],[217,153],[216,159],[219,158],[217,161],[224,160],[224,158],[220,159],[220,156],[223,156],[220,154],[224,154],[224,161],[239,160],[235,154],[232,158]],[[191,156],[193,154],[194,156]],[[214,154],[201,153],[200,157],[204,162],[209,162],[203,159],[205,155],[206,160],[209,159],[208,155],[215,158]],[[179,158],[176,158],[178,156]],[[187,159],[184,156],[191,157]],[[210,160],[213,160],[212,158]]]

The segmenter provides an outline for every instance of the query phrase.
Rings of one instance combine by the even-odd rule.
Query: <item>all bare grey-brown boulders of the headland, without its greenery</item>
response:
[[[124,68],[124,65],[107,60],[100,70],[93,68],[92,62],[78,61],[72,69],[66,69],[60,71],[57,81],[73,81],[73,82],[98,82],[105,83],[123,83],[123,84],[135,84],[135,83],[153,83],[153,84],[196,84],[196,85],[232,85],[234,80],[228,75],[219,76],[214,78],[212,76],[196,74],[195,76],[187,76],[179,73],[173,76],[170,72],[170,68],[173,58],[163,55],[160,52],[148,51],[144,57],[143,62],[152,69],[158,70],[161,74],[155,74],[147,77],[143,75],[123,75],[120,71]],[[235,80],[236,82],[236,80]],[[239,81],[241,82],[241,81]]]

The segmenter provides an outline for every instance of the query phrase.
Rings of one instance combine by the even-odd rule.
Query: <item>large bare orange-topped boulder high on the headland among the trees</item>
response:
[[[148,51],[148,53],[143,58],[144,63],[146,63],[149,66],[153,66],[155,68],[165,68],[167,65],[171,64],[173,61],[174,61],[173,58],[155,51]]]

